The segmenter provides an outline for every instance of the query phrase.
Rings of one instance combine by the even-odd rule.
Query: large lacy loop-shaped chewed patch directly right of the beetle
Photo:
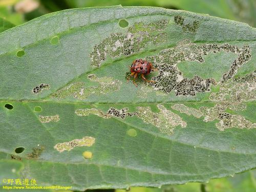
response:
[[[158,69],[158,75],[154,76],[149,85],[154,90],[160,90],[165,93],[175,91],[177,96],[195,96],[198,92],[209,92],[211,84],[217,84],[215,79],[203,79],[197,75],[193,78],[183,77],[183,73],[178,69],[177,64],[182,61],[205,62],[203,56],[209,53],[232,52],[238,55],[233,61],[230,69],[225,72],[221,78],[221,82],[225,82],[237,74],[237,70],[248,62],[251,58],[251,49],[244,45],[242,48],[229,44],[193,44],[183,41],[183,43],[174,48],[164,49],[159,54],[146,57]],[[219,83],[221,83],[219,82]]]

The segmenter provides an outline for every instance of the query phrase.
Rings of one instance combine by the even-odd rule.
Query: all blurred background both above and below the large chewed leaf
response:
[[[182,9],[209,14],[256,26],[256,0],[0,0],[0,22],[11,27],[26,23],[41,15],[63,9],[99,6],[155,6],[168,9]],[[1,19],[1,18],[4,18]],[[10,22],[10,23],[9,23]],[[9,27],[10,28],[10,27]],[[8,29],[8,27],[6,27]],[[0,29],[4,31],[5,29]],[[222,179],[212,179],[208,183],[188,183],[185,185],[163,186],[161,188],[134,187],[131,192],[253,192],[256,191],[256,171]],[[88,190],[88,191],[115,191]],[[125,190],[116,190],[124,192]]]

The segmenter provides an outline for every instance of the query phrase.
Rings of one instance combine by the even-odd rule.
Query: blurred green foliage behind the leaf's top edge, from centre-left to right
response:
[[[231,20],[238,20],[240,22],[248,23],[252,27],[256,25],[255,0],[66,0],[66,2],[73,8],[122,5],[182,9]]]

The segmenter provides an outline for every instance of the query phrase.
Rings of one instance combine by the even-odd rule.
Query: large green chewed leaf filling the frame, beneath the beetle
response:
[[[255,168],[255,39],[231,20],[121,6],[2,32],[1,178],[84,190]],[[145,75],[155,82],[126,83],[138,58],[157,68]]]

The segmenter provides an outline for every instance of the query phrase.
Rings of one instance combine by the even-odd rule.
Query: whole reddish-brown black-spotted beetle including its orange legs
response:
[[[127,80],[130,79],[131,76],[134,76],[134,79],[138,77],[138,74],[141,75],[141,78],[144,81],[147,82],[155,82],[154,80],[147,80],[144,75],[147,75],[150,73],[152,70],[154,70],[154,67],[151,62],[143,60],[143,59],[136,59],[133,61],[132,66],[131,66],[131,75]],[[156,70],[156,69],[155,69]],[[137,84],[134,81],[134,84],[137,86]]]

